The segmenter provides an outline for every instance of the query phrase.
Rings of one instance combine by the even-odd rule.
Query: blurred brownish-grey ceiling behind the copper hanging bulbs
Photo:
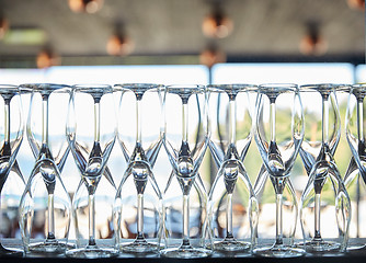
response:
[[[217,1],[217,0],[216,0]],[[0,58],[35,57],[45,46],[62,59],[108,57],[106,43],[116,25],[133,39],[134,56],[196,56],[214,43],[229,57],[299,57],[299,43],[311,22],[328,43],[327,57],[365,54],[365,12],[346,0],[226,0],[224,12],[233,21],[232,34],[210,39],[202,32],[209,14],[207,0],[104,0],[94,13],[75,13],[68,0],[2,0],[1,14],[10,32],[42,30],[46,37],[25,45],[0,41]],[[67,61],[67,60],[64,60]]]

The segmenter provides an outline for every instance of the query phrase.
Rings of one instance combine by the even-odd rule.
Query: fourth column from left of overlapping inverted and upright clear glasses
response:
[[[162,146],[164,90],[149,83],[116,84],[115,89],[121,91],[118,141],[128,162],[114,205],[116,245],[127,253],[158,253],[162,195],[152,168]]]

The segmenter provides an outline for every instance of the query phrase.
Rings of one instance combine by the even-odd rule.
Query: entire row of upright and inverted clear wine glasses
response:
[[[26,135],[36,162],[19,205],[26,253],[203,258],[217,251],[285,258],[344,252],[351,221],[346,186],[365,178],[365,90],[340,84],[1,87],[1,187],[10,178],[24,184],[16,162],[23,134],[20,93],[31,93]],[[350,92],[346,135],[353,159],[345,184],[333,157],[341,133],[338,91]],[[49,119],[57,122],[49,125]],[[252,137],[263,161],[253,186],[243,164]],[[118,187],[107,167],[116,140],[127,162]],[[162,147],[172,169],[163,191],[153,174]],[[208,194],[198,173],[207,148],[218,169]],[[61,180],[69,151],[81,174],[72,203]],[[289,176],[298,152],[308,174],[299,206]],[[268,193],[276,204],[276,235],[273,244],[263,245],[258,225]],[[329,224],[321,220],[324,202],[334,207],[335,241],[321,235]],[[235,229],[236,204],[243,210]],[[304,241],[296,243],[298,210]],[[71,217],[76,245],[68,242]],[[96,232],[99,221],[113,228],[114,237]],[[99,237],[106,238],[96,242]],[[2,245],[1,251],[23,253]]]

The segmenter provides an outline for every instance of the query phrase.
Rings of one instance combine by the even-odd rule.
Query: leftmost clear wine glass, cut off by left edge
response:
[[[18,209],[19,191],[24,186],[24,179],[16,163],[16,153],[23,140],[23,118],[20,90],[16,85],[0,85],[0,208],[1,217]],[[16,204],[16,207],[14,207]],[[0,242],[0,256],[22,256],[23,251],[3,245]]]

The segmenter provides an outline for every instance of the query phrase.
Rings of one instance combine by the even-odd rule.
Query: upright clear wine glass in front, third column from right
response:
[[[289,174],[304,138],[304,115],[296,84],[261,84],[256,101],[255,141],[266,171],[262,171],[255,185],[262,187],[267,178],[275,192],[276,238],[271,247],[258,247],[253,253],[261,256],[301,256],[305,251],[293,245],[297,214],[290,220],[290,237],[283,235],[283,193],[287,187],[297,207]],[[261,190],[255,190],[260,192]],[[295,209],[296,211],[297,209]],[[287,219],[288,220],[288,219]],[[291,222],[294,221],[294,222]]]

